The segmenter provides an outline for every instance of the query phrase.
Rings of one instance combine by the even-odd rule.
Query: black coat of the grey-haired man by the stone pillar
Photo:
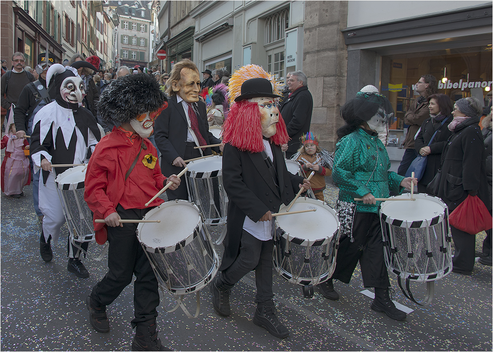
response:
[[[287,134],[291,140],[287,143],[287,152],[294,154],[300,147],[300,137],[310,131],[312,122],[313,98],[308,87],[300,87],[282,104],[281,115],[286,123]]]

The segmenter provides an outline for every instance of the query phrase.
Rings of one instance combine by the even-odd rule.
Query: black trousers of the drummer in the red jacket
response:
[[[146,209],[123,209],[120,205],[116,211],[122,219],[141,219]],[[125,223],[123,227],[108,226],[108,268],[106,276],[93,287],[91,298],[96,306],[110,305],[121,291],[134,282],[134,316],[132,327],[137,323],[157,317],[156,307],[159,305],[157,279],[137,240],[137,225]]]

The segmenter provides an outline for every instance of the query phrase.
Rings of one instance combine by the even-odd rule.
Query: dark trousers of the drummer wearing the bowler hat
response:
[[[240,253],[236,260],[220,273],[219,280],[232,288],[246,274],[255,269],[256,303],[273,303],[272,252],[274,241],[260,241],[243,230]]]

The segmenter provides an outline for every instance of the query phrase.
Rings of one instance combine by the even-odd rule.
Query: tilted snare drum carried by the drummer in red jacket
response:
[[[137,238],[162,288],[181,296],[211,282],[219,258],[195,205],[183,200],[165,202],[143,219],[161,220],[140,223]]]

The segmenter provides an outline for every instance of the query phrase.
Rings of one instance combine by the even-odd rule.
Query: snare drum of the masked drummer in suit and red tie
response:
[[[187,167],[188,200],[199,207],[206,225],[225,224],[228,196],[222,183],[222,156],[195,160]]]

